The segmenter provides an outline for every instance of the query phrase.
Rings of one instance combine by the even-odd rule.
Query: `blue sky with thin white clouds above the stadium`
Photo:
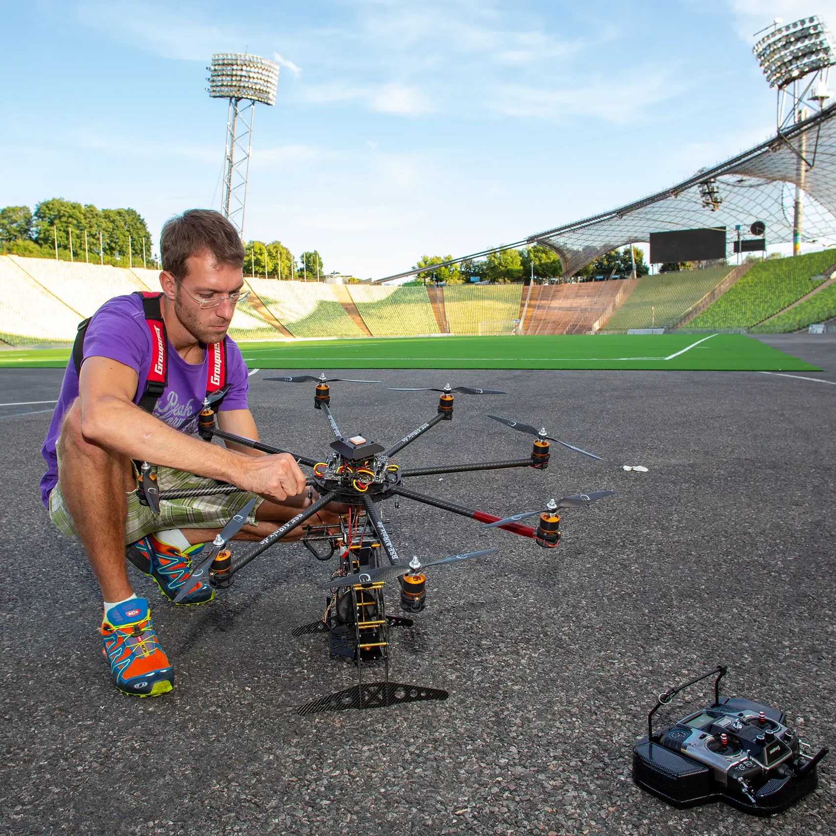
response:
[[[0,205],[220,203],[213,52],[281,64],[255,115],[249,238],[378,278],[657,191],[761,141],[751,52],[836,0],[3,4]]]

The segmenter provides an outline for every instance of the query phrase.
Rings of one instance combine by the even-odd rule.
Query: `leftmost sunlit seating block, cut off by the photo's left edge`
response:
[[[12,257],[0,256],[0,288],[3,343],[48,347],[75,339],[79,321],[84,318],[35,283]]]

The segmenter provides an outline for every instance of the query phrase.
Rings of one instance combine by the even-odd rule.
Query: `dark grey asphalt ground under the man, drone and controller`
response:
[[[456,395],[453,421],[402,451],[402,466],[528,455],[528,437],[487,412],[545,423],[606,460],[555,449],[547,472],[420,477],[416,490],[502,513],[579,490],[616,492],[565,512],[553,551],[386,502],[407,555],[501,551],[437,570],[416,626],[390,632],[392,679],[445,688],[450,699],[373,711],[294,713],[354,684],[323,635],[290,635],[321,614],[316,584],[333,566],[298,544],[273,548],[203,607],[176,609],[135,575],[176,686],[155,700],[115,691],[84,553],[38,499],[49,405],[0,407],[0,831],[836,832],[833,756],[818,791],[771,819],[720,804],[678,811],[630,781],[655,694],[718,662],[730,665],[726,693],[788,711],[814,747],[836,744],[836,385],[816,382],[836,382],[836,339],[763,339],[825,371],[362,375],[509,393]],[[262,376],[251,378],[251,400],[263,437],[324,451],[329,431],[310,385]],[[54,398],[59,380],[58,370],[0,371],[0,401]],[[349,387],[332,387],[346,433],[395,440],[435,413],[433,393]],[[390,614],[400,612],[395,591]],[[707,690],[685,696],[671,717],[708,701]]]

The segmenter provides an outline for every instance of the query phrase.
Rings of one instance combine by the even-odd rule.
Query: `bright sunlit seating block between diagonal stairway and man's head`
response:
[[[35,283],[79,314],[79,319],[91,316],[114,296],[148,289],[127,269],[49,258],[8,257]]]

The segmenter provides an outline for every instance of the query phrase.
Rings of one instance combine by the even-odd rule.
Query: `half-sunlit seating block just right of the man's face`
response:
[[[294,337],[362,337],[329,284],[247,278],[268,311]]]

